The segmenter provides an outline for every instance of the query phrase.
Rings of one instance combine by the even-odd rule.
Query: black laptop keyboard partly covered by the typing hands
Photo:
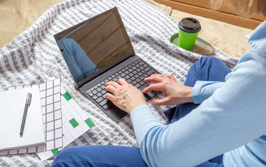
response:
[[[90,88],[86,91],[86,93],[89,94],[90,97],[92,97],[98,104],[100,104],[105,111],[108,111],[110,106],[112,105],[112,102],[110,100],[107,100],[105,95],[105,83],[108,81],[118,81],[120,78],[124,78],[129,84],[132,84],[136,88],[140,88],[146,82],[144,79],[146,77],[149,77],[151,74],[156,74],[157,72],[154,71],[147,63],[142,61],[141,59],[138,59],[137,61],[134,61],[127,67],[124,67],[123,69],[119,70],[118,72],[112,74],[112,76],[108,77],[108,79],[105,79],[99,84],[96,84],[96,86]]]

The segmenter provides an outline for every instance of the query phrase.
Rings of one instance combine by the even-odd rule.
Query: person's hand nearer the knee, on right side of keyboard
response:
[[[150,84],[142,90],[142,93],[148,93],[151,90],[161,90],[165,95],[163,99],[152,100],[152,103],[158,106],[193,102],[192,87],[179,84],[172,74],[152,74],[151,77],[145,78],[145,81],[153,81],[156,84]]]

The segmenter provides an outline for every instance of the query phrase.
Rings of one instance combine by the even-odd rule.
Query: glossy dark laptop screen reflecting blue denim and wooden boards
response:
[[[77,87],[134,54],[117,8],[54,35]]]

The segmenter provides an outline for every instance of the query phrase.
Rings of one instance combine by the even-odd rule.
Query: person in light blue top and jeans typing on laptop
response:
[[[235,2],[243,7],[243,0]],[[253,4],[266,15],[266,1]],[[142,92],[124,79],[107,82],[105,97],[131,114],[140,148],[75,146],[52,166],[266,166],[266,21],[247,40],[252,49],[232,72],[219,58],[205,56],[191,66],[184,85],[170,74],[146,78],[156,84]],[[147,106],[142,93],[150,90],[165,95],[152,103],[177,104],[165,111],[169,125]]]

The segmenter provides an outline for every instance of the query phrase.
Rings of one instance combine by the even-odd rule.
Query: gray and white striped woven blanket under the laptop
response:
[[[117,6],[131,42],[138,54],[162,74],[173,74],[184,83],[189,67],[201,55],[180,49],[169,42],[178,32],[177,22],[163,11],[142,0],[68,0],[47,10],[32,26],[0,49],[0,90],[10,86],[41,84],[52,78],[89,113],[95,126],[68,145],[126,145],[138,147],[129,116],[113,122],[73,85],[68,67],[53,38],[55,33]],[[215,55],[228,67],[238,61],[216,49]],[[158,97],[162,95],[157,95]],[[149,104],[154,115],[167,124],[163,111],[170,106]],[[0,134],[3,135],[3,134]],[[0,166],[50,166],[37,154],[0,156]]]

